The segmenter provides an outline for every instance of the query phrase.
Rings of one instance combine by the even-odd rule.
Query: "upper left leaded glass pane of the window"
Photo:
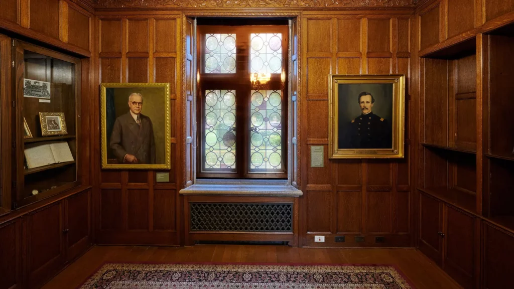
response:
[[[235,34],[205,34],[205,73],[235,73]]]

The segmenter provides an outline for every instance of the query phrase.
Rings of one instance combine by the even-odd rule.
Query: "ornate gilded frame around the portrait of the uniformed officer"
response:
[[[339,149],[339,84],[393,84],[392,149]],[[403,158],[405,142],[405,75],[329,75],[328,157]]]

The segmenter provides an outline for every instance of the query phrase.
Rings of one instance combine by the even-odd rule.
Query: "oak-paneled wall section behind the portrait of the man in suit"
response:
[[[96,83],[171,84],[171,170],[101,170],[100,151],[92,156],[96,241],[103,244],[178,245],[178,189],[183,167],[177,139],[181,128],[181,14],[99,15],[96,20]],[[96,91],[96,103],[99,103]],[[100,115],[95,115],[95,147],[100,148]],[[180,138],[181,139],[181,138]],[[156,173],[170,182],[156,183]]]

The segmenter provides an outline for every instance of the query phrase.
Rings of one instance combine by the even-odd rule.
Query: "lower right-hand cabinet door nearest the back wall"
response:
[[[420,194],[419,250],[439,266],[442,265],[443,204],[426,194]]]

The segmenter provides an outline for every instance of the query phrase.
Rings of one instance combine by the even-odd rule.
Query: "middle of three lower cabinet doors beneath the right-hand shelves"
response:
[[[464,288],[474,288],[476,225],[472,215],[446,206],[443,268]]]

